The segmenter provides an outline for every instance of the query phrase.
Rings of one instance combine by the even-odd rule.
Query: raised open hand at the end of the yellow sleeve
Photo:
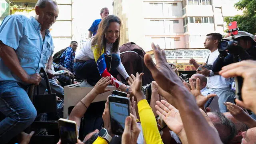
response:
[[[136,73],[136,77],[132,74],[131,81],[128,80],[128,84],[131,86],[132,94],[137,98],[137,101],[144,99],[144,93],[142,91],[142,76],[144,73]]]

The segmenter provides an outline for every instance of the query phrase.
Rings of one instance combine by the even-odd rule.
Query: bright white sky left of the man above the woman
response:
[[[82,33],[87,32],[92,22],[100,19],[100,10],[104,7],[113,14],[113,0],[73,0],[73,34],[74,40],[80,41]]]

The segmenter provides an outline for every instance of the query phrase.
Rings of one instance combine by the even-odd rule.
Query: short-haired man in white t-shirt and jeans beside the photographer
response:
[[[218,42],[222,39],[222,35],[218,33],[211,33],[206,35],[206,39],[204,42],[204,47],[211,51],[208,58],[206,58],[205,63],[201,66],[196,63],[196,60],[193,58],[189,60],[190,64],[193,64],[194,67],[197,68],[197,72],[199,74],[203,74],[207,76],[207,87],[216,93],[219,96],[219,107],[220,112],[228,112],[226,106],[224,106],[223,102],[234,102],[234,92],[231,90],[231,80],[219,76],[218,72],[212,72],[212,70],[208,70],[204,66],[212,65],[216,58],[219,55],[218,52]]]

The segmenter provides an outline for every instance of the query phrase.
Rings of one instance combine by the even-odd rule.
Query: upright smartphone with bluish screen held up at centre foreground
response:
[[[112,133],[120,136],[124,132],[126,117],[130,116],[130,100],[123,96],[109,96],[108,102]]]

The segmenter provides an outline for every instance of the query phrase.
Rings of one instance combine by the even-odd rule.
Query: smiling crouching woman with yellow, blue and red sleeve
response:
[[[116,80],[118,72],[129,80],[119,52],[120,27],[122,23],[117,16],[108,15],[99,24],[97,34],[90,38],[84,47],[76,52],[74,72],[79,79],[94,86],[100,77],[109,76],[111,84],[130,93],[130,87]]]

